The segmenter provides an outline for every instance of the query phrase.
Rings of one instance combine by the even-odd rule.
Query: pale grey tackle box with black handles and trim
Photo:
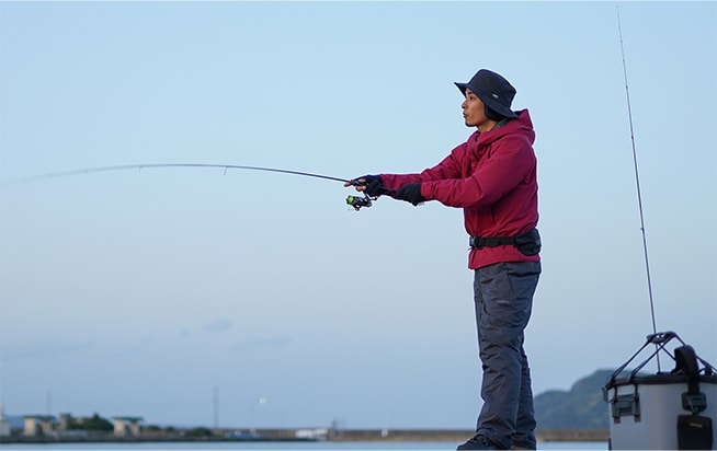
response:
[[[674,355],[664,349],[672,338],[683,345]],[[621,375],[649,344],[657,350]],[[639,373],[661,351],[674,361],[674,369]],[[611,450],[717,449],[717,371],[672,332],[649,335],[645,346],[608,379],[603,394],[608,403]]]

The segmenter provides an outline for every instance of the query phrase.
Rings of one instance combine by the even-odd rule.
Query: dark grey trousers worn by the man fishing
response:
[[[533,307],[540,263],[498,263],[476,269],[474,292],[483,377],[477,433],[505,449],[535,449],[531,370],[523,331]]]

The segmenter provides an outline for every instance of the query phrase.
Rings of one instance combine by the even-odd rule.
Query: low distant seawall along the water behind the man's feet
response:
[[[257,438],[234,438],[225,437],[224,433],[204,437],[191,437],[177,433],[143,433],[138,437],[116,437],[112,433],[91,435],[88,437],[72,436],[37,436],[27,437],[22,435],[1,437],[0,443],[139,443],[139,442],[307,442],[307,441],[335,441],[335,442],[360,442],[360,441],[455,441],[462,442],[473,436],[475,431],[463,429],[349,429],[333,433],[326,439],[311,439],[295,437],[293,429],[257,430],[262,437]],[[538,429],[536,430],[538,442],[546,441],[607,441],[608,429]]]

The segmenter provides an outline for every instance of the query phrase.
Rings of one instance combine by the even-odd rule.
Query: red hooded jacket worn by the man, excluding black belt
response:
[[[513,236],[535,228],[537,160],[535,131],[527,109],[490,131],[476,131],[436,166],[420,174],[380,174],[384,185],[398,189],[421,183],[421,196],[463,208],[470,236]],[[513,245],[471,248],[468,267],[500,262],[538,262]]]

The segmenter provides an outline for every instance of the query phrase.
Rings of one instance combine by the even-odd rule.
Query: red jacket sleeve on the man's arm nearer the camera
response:
[[[535,167],[531,142],[523,137],[505,137],[479,162],[466,178],[425,181],[421,195],[448,207],[481,208],[513,190]]]

